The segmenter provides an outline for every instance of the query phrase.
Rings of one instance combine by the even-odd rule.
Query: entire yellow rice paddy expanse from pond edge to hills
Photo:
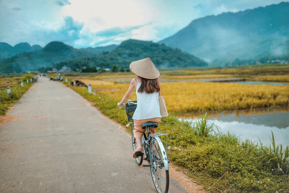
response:
[[[263,76],[260,76],[261,72]],[[172,70],[161,71],[160,80],[170,113],[204,113],[288,106],[289,87],[286,85],[245,85],[233,82],[236,78],[289,82],[289,75],[284,73],[289,73],[288,66]],[[121,100],[134,77],[136,76],[132,73],[106,73],[68,78],[78,79],[85,84],[90,83],[93,90]],[[131,99],[136,100],[135,93]]]

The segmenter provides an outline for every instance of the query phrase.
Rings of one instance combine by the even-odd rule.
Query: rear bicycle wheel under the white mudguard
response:
[[[154,187],[158,193],[167,193],[169,191],[169,163],[163,143],[157,136],[150,140],[149,155]]]

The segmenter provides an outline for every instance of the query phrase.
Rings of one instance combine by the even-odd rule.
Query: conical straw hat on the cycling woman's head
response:
[[[130,63],[129,69],[136,75],[146,79],[156,79],[160,72],[150,58],[144,58]]]

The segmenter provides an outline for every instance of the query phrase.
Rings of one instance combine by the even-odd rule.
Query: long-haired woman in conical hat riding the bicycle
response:
[[[130,82],[129,89],[124,94],[123,99],[117,103],[118,106],[123,106],[126,100],[132,94],[132,90],[136,88],[137,107],[132,116],[134,120],[133,133],[137,148],[133,152],[133,157],[137,158],[136,153],[142,151],[141,138],[145,129],[141,128],[141,124],[146,122],[156,122],[160,124],[160,104],[159,104],[159,91],[160,91],[160,72],[155,67],[150,58],[141,59],[130,63],[129,69],[138,77],[133,78]],[[151,128],[151,133],[155,133],[157,128]]]

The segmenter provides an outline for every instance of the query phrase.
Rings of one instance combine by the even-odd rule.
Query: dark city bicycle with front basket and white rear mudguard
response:
[[[137,144],[135,142],[135,137],[133,134],[133,119],[132,115],[136,109],[137,101],[128,100],[125,104],[126,115],[129,122],[132,122],[132,149],[135,151]],[[120,107],[121,108],[121,107]],[[148,165],[143,165],[143,167],[150,167],[151,177],[154,182],[154,187],[158,193],[167,193],[169,191],[169,160],[166,155],[166,148],[168,143],[168,134],[166,133],[150,133],[150,128],[157,128],[158,124],[156,122],[146,122],[141,125],[141,128],[147,130],[147,135],[141,138],[142,152],[136,153],[135,158],[137,164],[140,166],[143,160],[148,162]],[[166,148],[164,148],[162,141],[159,136],[166,136]]]

